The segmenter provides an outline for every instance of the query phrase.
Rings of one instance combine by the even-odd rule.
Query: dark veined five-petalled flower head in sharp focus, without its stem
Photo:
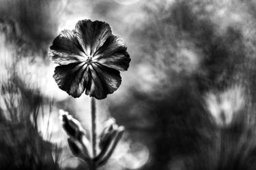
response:
[[[53,78],[72,97],[86,95],[104,99],[119,88],[119,71],[129,67],[124,41],[112,34],[106,22],[80,20],[74,30],[64,30],[54,39],[49,56],[55,68]]]

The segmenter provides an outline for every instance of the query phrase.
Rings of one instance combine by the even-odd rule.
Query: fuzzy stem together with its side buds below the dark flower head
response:
[[[87,139],[85,129],[79,120],[74,119],[68,112],[59,111],[63,129],[69,136],[68,144],[72,154],[85,161],[90,170],[96,170],[107,163],[124,134],[124,126],[118,126],[114,118],[106,120],[98,143],[100,152],[97,153],[95,104],[95,100],[91,99],[91,142]]]

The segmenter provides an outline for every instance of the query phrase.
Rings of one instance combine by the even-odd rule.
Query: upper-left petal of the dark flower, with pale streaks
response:
[[[64,30],[53,40],[49,56],[51,61],[59,65],[68,65],[85,61],[82,48],[74,31]]]

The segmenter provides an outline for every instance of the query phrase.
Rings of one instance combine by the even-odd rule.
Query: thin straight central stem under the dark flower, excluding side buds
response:
[[[96,101],[94,97],[91,97],[91,148],[92,148],[92,160],[91,170],[96,170],[94,158],[96,157]]]

